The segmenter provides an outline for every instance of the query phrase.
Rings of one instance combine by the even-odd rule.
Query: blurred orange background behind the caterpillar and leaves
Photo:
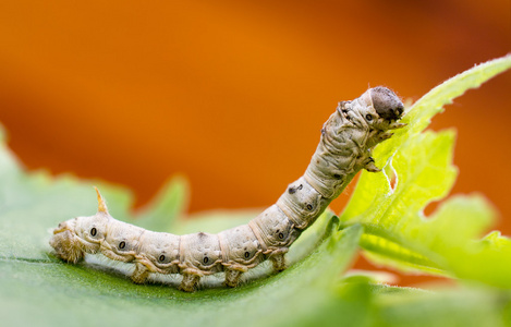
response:
[[[339,100],[377,85],[416,100],[504,56],[511,5],[16,0],[0,3],[0,122],[29,170],[124,184],[137,206],[182,173],[194,213],[275,203]],[[431,125],[459,131],[453,193],[486,194],[506,234],[510,90],[507,72]]]

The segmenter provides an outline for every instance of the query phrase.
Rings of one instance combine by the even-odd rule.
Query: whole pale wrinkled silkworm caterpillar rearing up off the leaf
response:
[[[270,259],[285,269],[284,254],[361,170],[379,171],[370,152],[389,138],[388,131],[404,111],[386,87],[375,87],[353,101],[342,101],[321,130],[321,138],[305,174],[291,183],[277,203],[247,225],[218,234],[174,235],[154,232],[112,218],[99,191],[98,213],[61,222],[50,245],[63,261],[77,263],[85,253],[102,253],[134,263],[136,283],[149,274],[181,274],[180,289],[192,292],[200,278],[220,271],[226,286],[236,287],[243,272]],[[97,189],[96,189],[97,191]]]

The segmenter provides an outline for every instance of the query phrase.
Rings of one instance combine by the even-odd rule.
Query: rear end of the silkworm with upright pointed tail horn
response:
[[[50,245],[63,261],[77,263],[85,253],[96,253],[105,240],[107,222],[110,219],[107,205],[99,191],[98,213],[90,217],[76,217],[59,223],[53,230]]]

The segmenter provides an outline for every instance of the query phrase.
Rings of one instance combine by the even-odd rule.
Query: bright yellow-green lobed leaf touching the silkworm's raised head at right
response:
[[[495,219],[480,195],[443,202],[431,217],[424,208],[443,199],[457,168],[452,165],[454,132],[422,132],[430,118],[462,95],[511,68],[511,56],[475,66],[437,86],[403,119],[407,126],[375,150],[384,173],[363,172],[341,216],[344,225],[362,223],[361,245],[379,265],[511,287],[511,246],[504,238],[477,242]],[[392,186],[392,183],[394,185]]]

